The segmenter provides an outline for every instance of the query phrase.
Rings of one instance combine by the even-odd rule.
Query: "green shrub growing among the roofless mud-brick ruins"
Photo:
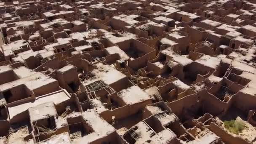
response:
[[[224,121],[224,126],[229,130],[229,132],[235,134],[242,132],[245,128],[245,124],[240,120]]]

